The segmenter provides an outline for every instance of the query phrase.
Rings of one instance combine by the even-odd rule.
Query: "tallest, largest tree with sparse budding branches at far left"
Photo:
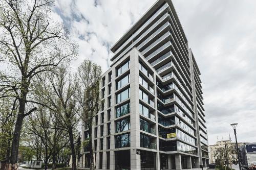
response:
[[[30,99],[32,80],[77,54],[68,30],[51,18],[53,5],[53,0],[0,1],[0,98],[14,97],[19,105],[11,144],[12,169],[17,168],[24,117],[37,109],[26,107],[34,102]]]

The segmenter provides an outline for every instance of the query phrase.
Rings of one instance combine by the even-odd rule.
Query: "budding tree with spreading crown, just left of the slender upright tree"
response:
[[[69,74],[65,66],[60,66],[54,72],[41,77],[41,87],[36,93],[41,103],[52,111],[59,129],[69,136],[69,147],[72,155],[72,169],[76,169],[75,139],[78,137],[78,107],[74,98],[77,89],[75,77]]]

